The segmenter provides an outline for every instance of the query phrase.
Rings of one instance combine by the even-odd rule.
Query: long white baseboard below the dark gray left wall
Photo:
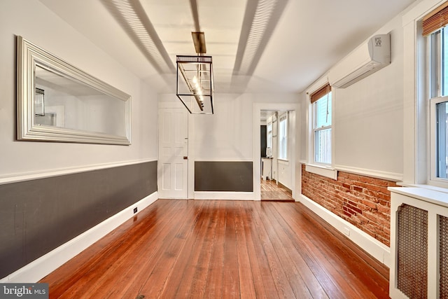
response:
[[[78,253],[87,249],[88,246],[94,244],[94,242],[97,242],[109,232],[118,228],[119,225],[132,218],[135,215],[134,208],[137,207],[138,211],[141,211],[155,202],[155,200],[158,200],[157,192],[146,196],[143,200],[139,200],[139,202],[136,202],[132,204],[132,206],[123,209],[123,211],[107,218],[102,223],[90,228],[90,230],[74,237],[69,242],[62,244],[49,253],[46,253],[44,256],[25,265],[25,267],[0,279],[0,283],[34,283],[39,281],[68,260],[78,255]]]

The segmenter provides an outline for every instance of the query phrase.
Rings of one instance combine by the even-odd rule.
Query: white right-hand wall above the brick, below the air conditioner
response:
[[[391,33],[391,64],[348,88],[333,88],[334,166],[389,179],[403,173],[403,29],[398,15],[375,34]],[[311,90],[307,90],[311,92]],[[300,95],[301,129],[309,102]],[[307,161],[308,130],[300,130],[300,160]]]

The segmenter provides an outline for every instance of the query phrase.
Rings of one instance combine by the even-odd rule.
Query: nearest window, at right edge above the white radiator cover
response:
[[[430,20],[428,17],[425,19]],[[423,19],[423,34],[427,35],[429,50],[429,181],[435,184],[448,183],[448,26],[445,23],[442,28],[428,29],[425,19]],[[428,33],[428,30],[434,29],[435,32]]]

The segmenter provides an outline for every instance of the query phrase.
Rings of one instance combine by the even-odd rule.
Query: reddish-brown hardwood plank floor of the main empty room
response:
[[[299,202],[157,200],[41,282],[50,298],[388,298],[388,269]]]

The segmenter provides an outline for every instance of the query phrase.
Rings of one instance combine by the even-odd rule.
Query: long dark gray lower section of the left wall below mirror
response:
[[[0,278],[157,191],[157,161],[0,185]]]

